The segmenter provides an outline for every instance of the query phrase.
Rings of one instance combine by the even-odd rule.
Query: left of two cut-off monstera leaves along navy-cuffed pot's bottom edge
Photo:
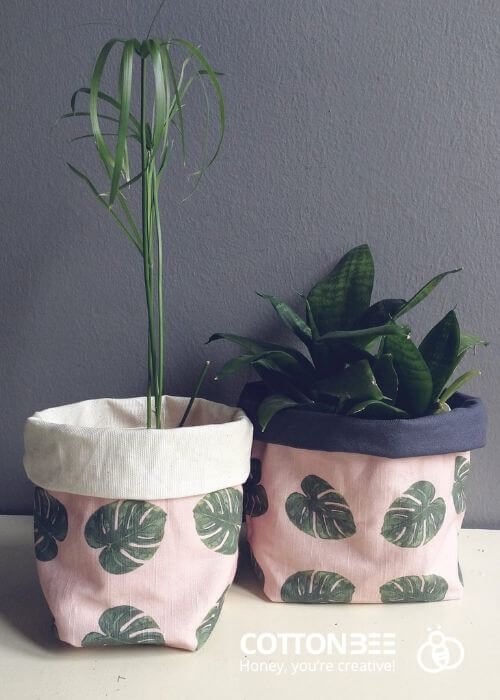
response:
[[[297,571],[281,587],[284,603],[350,603],[355,586],[333,571]]]

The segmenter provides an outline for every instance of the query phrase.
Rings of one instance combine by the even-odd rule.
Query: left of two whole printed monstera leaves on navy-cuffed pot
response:
[[[292,493],[285,509],[292,523],[311,537],[340,540],[356,532],[354,518],[343,496],[319,476],[302,480],[304,493]]]

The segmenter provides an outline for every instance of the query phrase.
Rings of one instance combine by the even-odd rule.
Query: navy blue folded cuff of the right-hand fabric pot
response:
[[[238,405],[253,423],[254,440],[275,445],[398,458],[468,452],[486,444],[482,401],[458,392],[449,401],[452,410],[434,416],[376,420],[291,408],[277,413],[262,432],[257,410],[266,395],[262,382],[252,382]]]

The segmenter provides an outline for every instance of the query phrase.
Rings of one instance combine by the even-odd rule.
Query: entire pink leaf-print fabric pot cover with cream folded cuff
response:
[[[165,397],[99,399],[28,419],[35,554],[61,640],[194,650],[215,626],[237,563],[252,425],[236,408]]]

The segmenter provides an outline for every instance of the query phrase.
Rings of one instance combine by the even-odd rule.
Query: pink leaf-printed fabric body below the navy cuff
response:
[[[255,442],[252,454],[247,533],[272,601],[461,597],[469,453],[389,459]]]

